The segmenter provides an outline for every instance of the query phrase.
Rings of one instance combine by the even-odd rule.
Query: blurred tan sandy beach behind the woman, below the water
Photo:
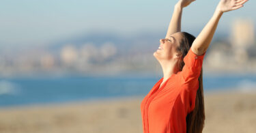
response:
[[[0,108],[0,132],[143,132],[143,97]],[[205,94],[203,132],[256,132],[256,93]]]

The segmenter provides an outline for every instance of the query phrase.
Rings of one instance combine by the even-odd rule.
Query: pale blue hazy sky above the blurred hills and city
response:
[[[1,0],[0,45],[47,44],[91,31],[123,35],[141,31],[166,31],[177,0]],[[202,29],[218,0],[197,0],[184,9],[182,30]],[[227,31],[236,18],[256,22],[256,1],[227,12],[218,30]]]

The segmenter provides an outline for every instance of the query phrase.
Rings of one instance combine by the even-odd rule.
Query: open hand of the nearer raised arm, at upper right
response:
[[[221,0],[218,3],[217,10],[221,12],[229,12],[243,7],[248,0]]]

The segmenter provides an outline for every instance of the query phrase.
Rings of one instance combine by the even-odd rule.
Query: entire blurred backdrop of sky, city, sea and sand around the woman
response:
[[[143,132],[175,3],[2,0],[0,132]],[[205,54],[204,132],[256,130],[255,4],[223,14]],[[182,31],[197,36],[216,5],[184,8]]]

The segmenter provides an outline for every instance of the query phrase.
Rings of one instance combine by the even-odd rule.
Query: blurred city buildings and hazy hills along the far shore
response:
[[[255,26],[236,19],[227,35],[215,35],[205,56],[205,72],[256,73]],[[1,48],[0,77],[42,75],[161,74],[153,57],[162,34],[134,33],[133,37],[94,33],[66,38],[52,45]],[[208,56],[209,55],[209,56]]]

